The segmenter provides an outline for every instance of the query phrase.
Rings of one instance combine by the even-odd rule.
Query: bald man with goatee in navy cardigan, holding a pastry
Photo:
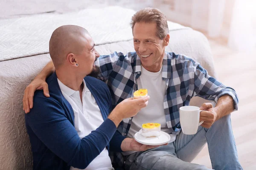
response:
[[[123,137],[116,127],[146,106],[144,99],[125,99],[111,112],[107,85],[97,75],[99,57],[90,34],[79,26],[61,26],[49,42],[55,73],[43,91],[34,96],[34,107],[25,115],[32,145],[34,170],[113,170],[108,151],[147,150]],[[111,114],[109,114],[111,113]]]

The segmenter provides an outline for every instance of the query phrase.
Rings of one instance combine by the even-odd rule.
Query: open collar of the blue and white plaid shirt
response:
[[[167,51],[164,51],[163,68],[162,68],[162,77],[163,78],[166,78],[166,79],[171,78],[171,70],[172,70],[171,59],[172,59],[172,56]],[[140,57],[138,56],[138,54],[136,54],[134,57],[133,72],[137,73],[137,74],[141,74],[141,62],[140,62]]]

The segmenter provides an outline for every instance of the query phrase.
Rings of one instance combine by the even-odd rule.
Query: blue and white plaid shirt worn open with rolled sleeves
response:
[[[114,52],[101,56],[96,65],[101,70],[99,78],[107,82],[110,88],[113,107],[122,100],[132,97],[137,90],[137,79],[141,75],[140,57],[136,52],[126,55]],[[198,62],[184,55],[165,51],[162,78],[167,85],[163,102],[164,115],[167,127],[173,134],[180,132],[179,108],[189,105],[193,96],[217,102],[221,96],[228,94],[234,100],[235,110],[238,109],[236,92],[209,76]],[[132,118],[124,119],[120,123],[118,130],[123,136],[127,136],[131,122]],[[118,159],[123,161],[120,157]],[[118,164],[122,166],[122,162]]]

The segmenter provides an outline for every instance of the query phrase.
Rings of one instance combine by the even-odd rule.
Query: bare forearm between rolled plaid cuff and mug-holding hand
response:
[[[214,108],[218,114],[217,119],[230,114],[234,110],[234,101],[230,95],[223,95],[218,99],[218,102]]]

